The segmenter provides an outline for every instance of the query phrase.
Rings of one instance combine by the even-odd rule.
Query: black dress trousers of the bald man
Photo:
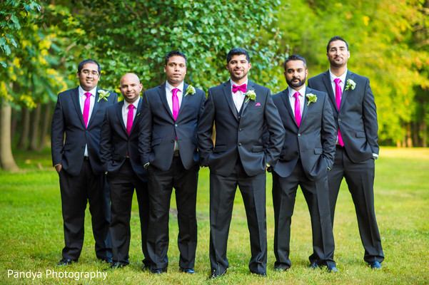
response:
[[[128,265],[128,252],[131,240],[131,206],[134,189],[138,201],[140,216],[141,249],[145,259],[143,264],[153,265],[148,258],[147,234],[149,222],[149,195],[148,184],[142,181],[133,171],[130,160],[127,158],[118,172],[108,175],[111,187],[111,241],[112,259],[114,263]]]

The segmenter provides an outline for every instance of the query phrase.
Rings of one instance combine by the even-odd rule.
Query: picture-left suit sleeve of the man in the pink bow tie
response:
[[[201,166],[207,165],[208,156],[213,151],[213,122],[215,118],[215,106],[213,103],[213,95],[211,90],[208,90],[207,100],[204,103],[203,113],[197,126],[198,150],[200,152]]]

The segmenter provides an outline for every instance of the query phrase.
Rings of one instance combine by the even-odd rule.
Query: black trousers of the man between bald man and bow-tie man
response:
[[[196,190],[199,165],[190,170],[183,167],[180,157],[173,157],[169,170],[149,165],[149,227],[148,254],[154,269],[168,266],[168,219],[173,187],[176,190],[179,266],[193,268],[197,244]]]

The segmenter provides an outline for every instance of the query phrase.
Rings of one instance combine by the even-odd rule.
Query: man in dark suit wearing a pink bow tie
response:
[[[251,238],[249,269],[266,276],[266,166],[275,163],[280,154],[284,129],[271,91],[248,80],[248,52],[233,48],[226,57],[226,68],[231,80],[208,90],[197,131],[201,165],[210,167],[211,277],[228,269],[226,246],[237,185]]]

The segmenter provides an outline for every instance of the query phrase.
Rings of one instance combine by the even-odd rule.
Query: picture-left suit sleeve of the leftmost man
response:
[[[51,123],[51,155],[52,165],[62,164],[64,147],[64,116],[61,104],[61,95],[56,101],[54,115],[52,115]]]

